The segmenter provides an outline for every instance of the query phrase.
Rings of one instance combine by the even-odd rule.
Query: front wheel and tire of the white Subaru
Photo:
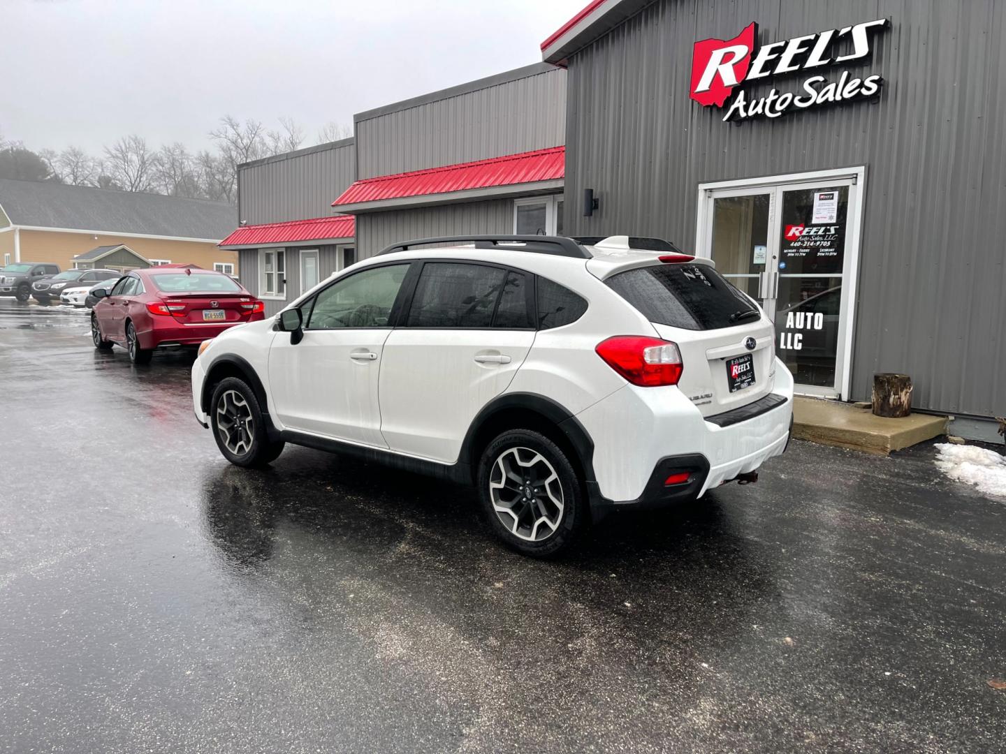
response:
[[[271,463],[286,446],[269,438],[255,391],[237,377],[227,377],[213,389],[209,423],[220,453],[234,465]]]

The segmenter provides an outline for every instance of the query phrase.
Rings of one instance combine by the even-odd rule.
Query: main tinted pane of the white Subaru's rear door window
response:
[[[488,328],[504,270],[481,264],[428,262],[415,286],[406,327]]]

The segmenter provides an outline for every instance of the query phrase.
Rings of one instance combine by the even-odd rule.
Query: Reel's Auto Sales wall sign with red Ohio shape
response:
[[[748,81],[787,73],[804,73],[840,66],[869,56],[874,32],[887,26],[886,18],[857,23],[841,29],[795,36],[758,46],[758,24],[750,23],[732,39],[703,39],[692,50],[691,99],[700,105],[722,108],[733,96],[724,121],[779,118],[791,110],[874,97],[883,79],[865,78],[841,71],[837,79],[815,73],[801,82],[797,91],[773,88],[767,97],[749,98],[743,89]],[[837,54],[836,48],[842,48]]]

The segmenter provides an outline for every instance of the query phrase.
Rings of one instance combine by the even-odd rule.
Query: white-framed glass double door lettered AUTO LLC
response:
[[[700,253],[776,324],[798,392],[847,389],[855,179],[707,190]]]

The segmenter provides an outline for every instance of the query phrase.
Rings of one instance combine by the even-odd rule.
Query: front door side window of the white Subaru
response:
[[[303,309],[310,309],[305,330],[383,328],[398,296],[408,264],[388,264],[364,269],[318,294]]]

